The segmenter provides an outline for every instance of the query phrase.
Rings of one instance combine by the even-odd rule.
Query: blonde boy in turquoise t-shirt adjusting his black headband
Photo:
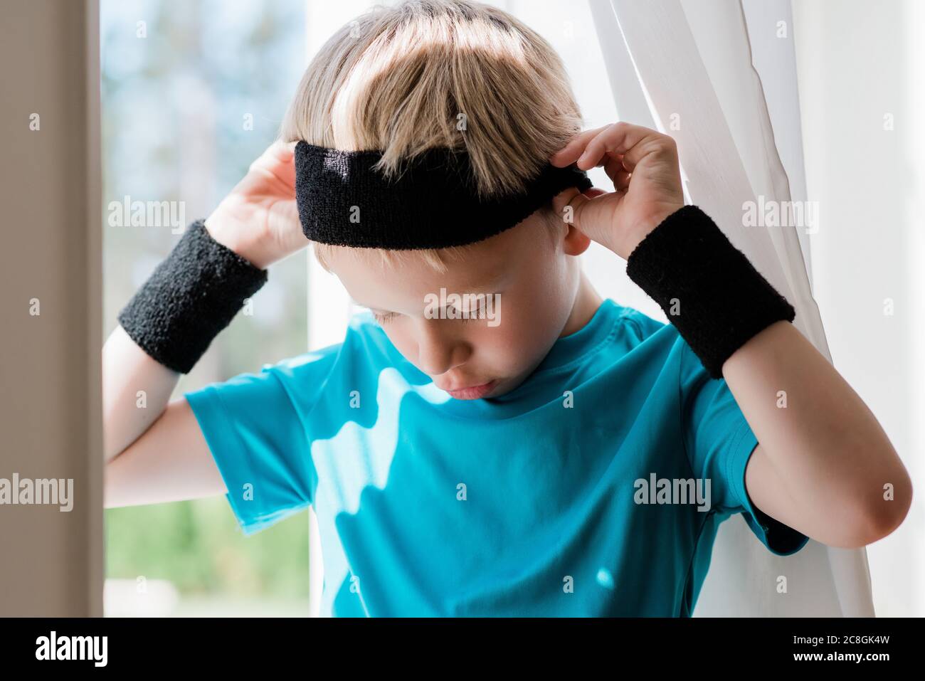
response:
[[[889,534],[905,468],[789,303],[684,206],[672,139],[580,129],[558,56],[494,7],[406,2],[341,29],[285,142],[106,342],[106,506],[224,492],[251,534],[312,505],[338,616],[687,616],[732,514],[780,555]],[[448,149],[468,193],[441,189],[453,155],[402,180]],[[614,192],[587,188],[595,166]],[[672,324],[601,299],[590,240]],[[370,312],[167,403],[308,241]]]

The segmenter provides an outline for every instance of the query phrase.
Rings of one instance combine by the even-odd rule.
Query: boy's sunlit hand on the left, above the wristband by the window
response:
[[[260,269],[308,245],[295,203],[295,145],[267,147],[205,220],[213,239]]]

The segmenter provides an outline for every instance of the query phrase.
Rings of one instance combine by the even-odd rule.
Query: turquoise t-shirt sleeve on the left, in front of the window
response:
[[[313,503],[317,477],[308,414],[330,371],[330,350],[183,393],[245,535]]]

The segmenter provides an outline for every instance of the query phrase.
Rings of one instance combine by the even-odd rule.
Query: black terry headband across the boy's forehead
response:
[[[311,241],[360,248],[445,248],[510,229],[570,187],[592,186],[584,170],[547,163],[525,192],[479,198],[469,155],[428,149],[386,180],[379,151],[343,152],[299,142],[295,189]]]

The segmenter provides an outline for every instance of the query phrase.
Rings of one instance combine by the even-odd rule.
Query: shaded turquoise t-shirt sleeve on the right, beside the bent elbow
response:
[[[681,426],[695,475],[710,480],[714,508],[741,513],[769,551],[787,556],[809,538],[756,507],[746,490],[746,465],[758,446],[745,415],[726,381],[710,378],[684,341],[681,350]]]

